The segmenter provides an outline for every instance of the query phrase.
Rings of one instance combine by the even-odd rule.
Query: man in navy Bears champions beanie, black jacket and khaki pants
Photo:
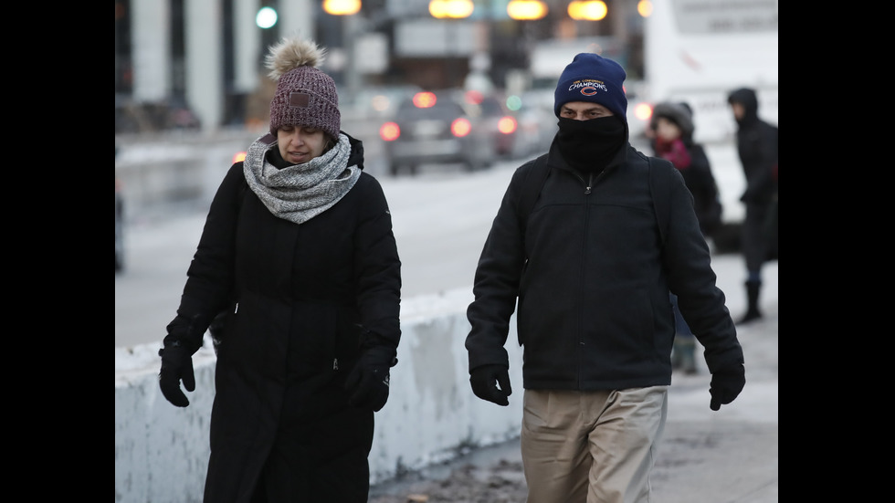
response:
[[[649,500],[671,383],[669,291],[706,348],[711,410],[745,383],[690,191],[670,162],[649,160],[628,142],[625,78],[615,61],[591,53],[565,67],[540,196],[521,222],[519,194],[541,158],[513,174],[476,269],[469,381],[499,405],[512,393],[504,345],[518,305],[531,503]],[[650,171],[668,174],[664,245]]]

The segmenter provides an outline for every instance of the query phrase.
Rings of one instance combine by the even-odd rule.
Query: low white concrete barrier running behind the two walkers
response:
[[[469,387],[464,342],[471,288],[402,302],[398,364],[388,403],[375,414],[370,481],[452,459],[469,448],[519,435],[521,348],[515,320],[507,343],[515,390],[508,407],[479,400]],[[174,407],[158,386],[158,346],[115,350],[116,503],[201,502],[208,463],[216,357],[206,335],[193,357],[195,392]]]

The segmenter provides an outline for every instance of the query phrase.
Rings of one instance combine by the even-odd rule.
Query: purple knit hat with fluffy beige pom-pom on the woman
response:
[[[342,114],[332,77],[317,69],[325,50],[310,40],[283,38],[271,46],[266,58],[268,74],[277,80],[270,100],[270,132],[281,126],[319,128],[339,138]]]

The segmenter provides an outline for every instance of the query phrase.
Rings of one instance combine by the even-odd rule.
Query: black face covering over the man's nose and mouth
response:
[[[575,121],[560,118],[556,141],[565,162],[584,173],[599,173],[625,146],[625,122],[615,115]]]

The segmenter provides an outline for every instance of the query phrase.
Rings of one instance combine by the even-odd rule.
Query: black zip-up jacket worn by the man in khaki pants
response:
[[[668,385],[674,314],[669,289],[706,348],[711,372],[742,363],[692,196],[672,172],[663,247],[648,159],[629,144],[603,173],[574,172],[556,150],[524,225],[518,198],[532,162],[513,174],[476,271],[467,311],[469,369],[510,364],[504,344],[517,305],[525,389],[616,390]],[[531,180],[529,180],[531,183]]]

